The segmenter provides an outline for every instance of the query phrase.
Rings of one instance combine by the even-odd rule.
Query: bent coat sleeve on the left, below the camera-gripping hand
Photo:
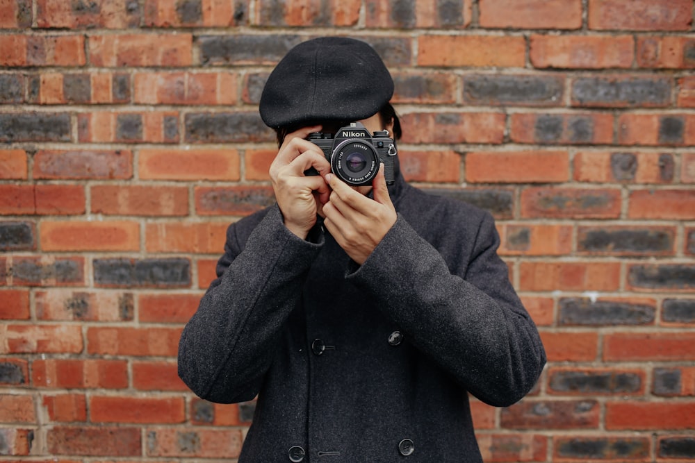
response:
[[[179,341],[179,376],[198,396],[218,403],[258,394],[281,328],[322,246],[287,230],[277,206],[245,243],[236,232],[235,224],[229,226],[218,278]]]

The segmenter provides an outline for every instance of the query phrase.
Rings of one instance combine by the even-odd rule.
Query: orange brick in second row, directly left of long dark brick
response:
[[[182,67],[193,64],[190,33],[92,35],[90,61],[97,67]]]

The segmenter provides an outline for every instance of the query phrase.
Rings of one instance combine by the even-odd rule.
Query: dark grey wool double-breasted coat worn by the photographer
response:
[[[481,462],[468,393],[508,406],[537,381],[492,217],[396,177],[398,219],[361,266],[277,205],[229,226],[179,376],[208,401],[258,396],[240,462]]]

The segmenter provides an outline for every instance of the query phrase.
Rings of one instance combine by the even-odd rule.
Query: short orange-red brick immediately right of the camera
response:
[[[461,155],[451,150],[398,151],[400,171],[414,182],[459,183]]]

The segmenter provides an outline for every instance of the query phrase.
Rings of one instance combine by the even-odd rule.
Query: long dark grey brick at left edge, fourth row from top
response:
[[[0,114],[0,142],[70,142],[70,114]]]

